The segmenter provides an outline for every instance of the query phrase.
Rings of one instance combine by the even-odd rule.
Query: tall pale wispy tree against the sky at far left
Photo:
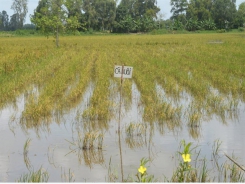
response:
[[[17,28],[22,28],[24,25],[26,14],[28,12],[27,1],[28,0],[13,0],[11,9],[14,10],[15,14],[18,14],[18,16],[16,16],[16,18],[18,18]]]

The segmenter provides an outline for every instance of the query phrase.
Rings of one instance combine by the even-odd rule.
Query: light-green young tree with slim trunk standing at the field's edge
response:
[[[59,34],[65,31],[75,31],[81,24],[76,16],[68,17],[65,0],[41,0],[39,5],[44,2],[45,6],[40,9],[40,12],[37,12],[37,9],[34,10],[31,22],[47,36],[52,33],[56,39],[56,46],[59,47]]]

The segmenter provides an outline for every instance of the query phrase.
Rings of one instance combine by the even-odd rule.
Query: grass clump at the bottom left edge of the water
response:
[[[43,168],[40,168],[37,171],[31,171],[28,174],[24,174],[17,179],[16,182],[20,183],[33,183],[33,182],[48,182],[49,174]]]

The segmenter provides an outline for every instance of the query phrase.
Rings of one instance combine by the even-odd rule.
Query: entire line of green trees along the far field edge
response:
[[[157,28],[188,31],[233,29],[245,25],[245,2],[236,0],[170,0],[172,16],[163,20],[157,0],[39,0],[24,24],[28,0],[13,0],[9,16],[0,12],[0,30],[33,28],[61,31],[148,32]],[[58,35],[56,35],[58,36]]]

